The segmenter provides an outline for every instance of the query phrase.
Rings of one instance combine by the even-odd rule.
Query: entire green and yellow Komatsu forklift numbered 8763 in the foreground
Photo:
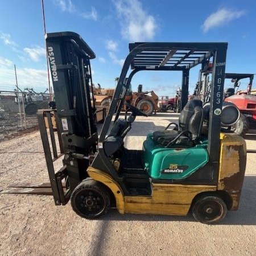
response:
[[[130,44],[99,138],[89,97],[92,49],[73,32],[47,34],[46,45],[64,154],[57,172],[52,164],[59,156],[51,135],[51,115],[40,112],[38,117],[56,205],[71,199],[73,210],[85,218],[100,217],[110,207],[119,213],[142,214],[186,215],[191,210],[196,220],[207,224],[238,208],[245,141],[220,133],[226,43]],[[213,59],[213,87],[205,136],[201,135],[202,102],[187,102],[188,77],[191,68],[209,59]],[[148,69],[183,73],[179,124],[148,134],[142,150],[128,150],[123,140],[137,115],[146,114],[127,103],[130,112],[125,118],[119,114],[132,77]]]

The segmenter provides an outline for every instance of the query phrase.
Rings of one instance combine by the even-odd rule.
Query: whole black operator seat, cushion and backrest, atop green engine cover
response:
[[[170,125],[175,125],[175,128],[167,130]],[[180,113],[179,125],[170,123],[166,130],[154,131],[152,139],[164,147],[193,147],[199,140],[202,125],[202,102],[191,100]]]

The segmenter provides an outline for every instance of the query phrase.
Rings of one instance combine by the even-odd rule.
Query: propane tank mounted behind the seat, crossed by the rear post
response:
[[[203,106],[204,121],[209,122],[210,102]],[[232,102],[222,102],[221,126],[229,127],[234,125],[240,118],[240,110]]]

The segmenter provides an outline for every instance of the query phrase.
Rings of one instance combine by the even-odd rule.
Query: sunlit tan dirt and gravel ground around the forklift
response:
[[[141,148],[148,132],[175,119],[177,114],[166,113],[137,118],[126,146]],[[247,147],[256,149],[255,140],[256,134],[246,135]],[[0,156],[0,190],[48,181],[38,131],[1,142]],[[0,194],[0,255],[255,255],[255,166],[255,154],[247,154],[240,208],[218,225],[191,216],[121,215],[114,209],[89,221],[70,204],[55,206],[51,196]]]

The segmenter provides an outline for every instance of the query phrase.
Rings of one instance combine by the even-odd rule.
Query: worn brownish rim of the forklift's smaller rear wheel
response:
[[[203,201],[197,207],[197,215],[207,222],[220,220],[223,213],[224,207],[212,200]]]

